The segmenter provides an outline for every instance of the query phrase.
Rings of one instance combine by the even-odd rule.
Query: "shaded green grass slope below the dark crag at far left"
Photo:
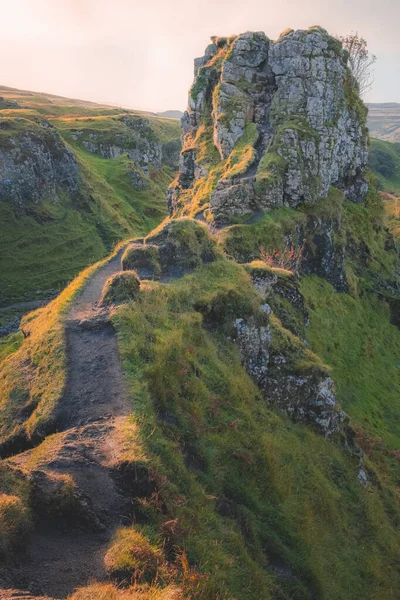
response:
[[[60,290],[107,247],[94,219],[78,209],[42,203],[17,216],[0,203],[1,303],[32,298],[38,290]]]

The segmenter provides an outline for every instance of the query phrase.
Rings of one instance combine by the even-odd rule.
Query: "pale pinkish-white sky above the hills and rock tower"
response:
[[[400,102],[399,0],[0,0],[0,84],[150,111],[186,108],[211,35],[321,25],[378,56],[366,100]]]

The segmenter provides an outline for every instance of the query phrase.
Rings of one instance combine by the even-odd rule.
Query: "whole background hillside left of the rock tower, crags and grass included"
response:
[[[177,123],[1,88],[0,303],[57,292],[152,229],[177,165]],[[27,251],[29,249],[29,252]]]

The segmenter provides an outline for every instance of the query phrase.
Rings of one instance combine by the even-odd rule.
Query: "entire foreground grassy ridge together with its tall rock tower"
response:
[[[2,585],[73,600],[396,600],[397,204],[385,221],[366,171],[366,111],[337,41],[314,27],[212,42],[195,61],[172,218],[124,249],[105,289],[115,306],[91,310],[120,250],[26,317],[0,365],[0,552],[18,565]],[[337,119],[325,120],[329,108]],[[118,296],[124,280],[131,301],[123,285]],[[94,318],[71,323],[82,304]],[[102,435],[74,420],[103,410],[86,400],[118,366],[114,350],[110,364],[98,356],[109,319],[127,426],[104,415],[111,465]],[[64,449],[71,427],[79,437]],[[77,473],[70,459],[86,444]],[[114,478],[129,522],[99,510],[87,467]],[[63,469],[72,481],[36,474]],[[37,501],[46,492],[52,514]],[[57,556],[39,552],[32,572],[29,541],[46,525],[49,535],[50,519],[60,546],[76,532],[80,551],[105,527],[86,573],[69,570],[62,589],[58,567],[41,576]]]

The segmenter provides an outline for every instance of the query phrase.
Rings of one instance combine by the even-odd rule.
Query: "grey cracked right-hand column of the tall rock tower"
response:
[[[322,31],[296,31],[271,45],[269,64],[277,82],[273,126],[283,127],[276,139],[286,161],[282,203],[325,198],[331,185],[362,201],[367,134],[345,101],[343,52]]]

